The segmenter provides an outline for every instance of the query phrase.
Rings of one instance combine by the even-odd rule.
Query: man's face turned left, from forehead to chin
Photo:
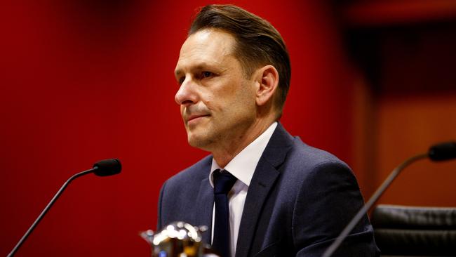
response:
[[[220,150],[255,122],[255,81],[246,79],[232,54],[234,44],[226,32],[203,29],[188,37],[180,50],[175,101],[194,147]]]

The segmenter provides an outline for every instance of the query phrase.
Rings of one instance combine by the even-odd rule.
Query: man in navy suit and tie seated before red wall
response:
[[[279,32],[236,6],[206,6],[175,77],[188,142],[211,155],[163,184],[158,229],[207,225],[203,240],[223,257],[321,256],[363,198],[346,164],[279,124],[290,84]],[[335,256],[376,254],[366,216]]]

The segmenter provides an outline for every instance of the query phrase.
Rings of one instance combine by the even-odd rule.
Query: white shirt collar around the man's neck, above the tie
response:
[[[257,167],[258,161],[264,152],[264,149],[271,139],[272,133],[277,127],[277,122],[274,122],[264,131],[259,137],[253,140],[252,143],[247,145],[239,154],[237,154],[231,162],[224,167],[229,173],[232,173],[238,180],[241,180],[242,183],[247,186],[250,185],[250,180],[252,180],[253,173]],[[209,182],[212,187],[214,187],[212,173],[216,169],[222,169],[215,162],[215,159],[212,159],[212,166],[210,167]]]

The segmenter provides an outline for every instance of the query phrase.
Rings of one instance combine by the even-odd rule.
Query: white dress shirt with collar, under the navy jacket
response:
[[[277,122],[274,122],[269,128],[264,131],[259,137],[253,140],[250,145],[244,148],[239,154],[234,157],[231,162],[224,166],[224,169],[212,159],[212,167],[210,168],[209,182],[214,187],[212,173],[216,169],[227,170],[232,173],[238,180],[234,183],[232,190],[228,193],[229,201],[229,232],[230,232],[230,246],[231,255],[234,257],[236,253],[236,244],[238,241],[239,225],[241,224],[242,211],[244,209],[244,203],[246,202],[246,196],[250,180],[252,180],[253,173],[257,167],[258,161],[266,148],[269,139],[271,139],[272,133],[276,129]],[[215,204],[212,215],[212,237],[214,237],[214,220],[215,220]]]

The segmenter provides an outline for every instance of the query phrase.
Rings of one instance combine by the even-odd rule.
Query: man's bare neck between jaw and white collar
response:
[[[225,145],[221,145],[216,150],[211,151],[215,162],[223,169],[239,152],[264,133],[274,121],[256,121],[244,133],[236,138],[231,138]]]

